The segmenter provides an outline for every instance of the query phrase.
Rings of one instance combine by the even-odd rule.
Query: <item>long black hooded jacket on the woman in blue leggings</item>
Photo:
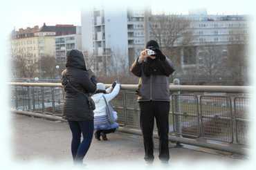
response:
[[[71,50],[67,53],[66,69],[62,72],[62,85],[64,85],[65,76],[71,85],[68,83],[64,86],[64,118],[71,121],[93,120],[93,110],[89,108],[88,97],[82,93],[89,95],[95,92],[97,82],[95,76],[90,77],[84,55],[80,50]],[[75,91],[72,86],[78,91]]]

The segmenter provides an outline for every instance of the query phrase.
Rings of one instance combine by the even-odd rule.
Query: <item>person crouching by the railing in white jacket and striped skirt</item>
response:
[[[100,140],[100,137],[102,137],[102,140],[107,140],[107,134],[114,133],[119,126],[116,122],[118,118],[117,113],[109,103],[118,95],[119,91],[120,84],[117,82],[113,82],[107,89],[105,84],[97,84],[97,91],[92,96],[95,102],[94,129],[96,131],[94,136],[97,140]]]

